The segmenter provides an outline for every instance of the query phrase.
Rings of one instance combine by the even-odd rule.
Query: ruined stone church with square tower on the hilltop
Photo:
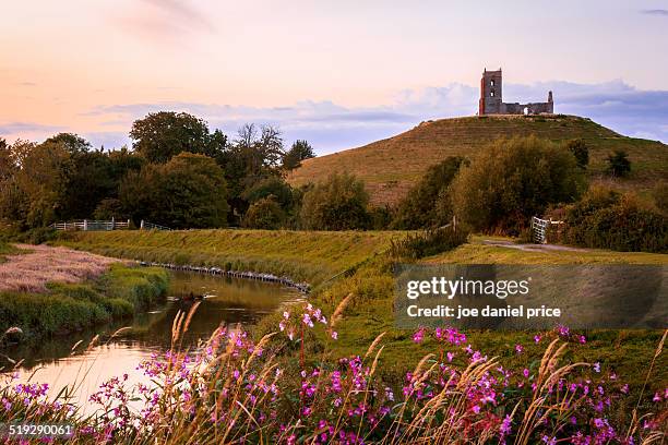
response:
[[[541,115],[553,113],[554,103],[552,92],[548,93],[548,101],[534,104],[506,104],[502,96],[501,69],[485,71],[480,80],[480,104],[478,116],[485,115]]]

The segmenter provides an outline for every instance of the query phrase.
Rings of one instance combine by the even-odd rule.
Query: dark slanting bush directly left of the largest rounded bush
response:
[[[452,218],[448,188],[464,163],[461,156],[450,156],[431,166],[398,205],[392,228],[411,230],[438,227]]]

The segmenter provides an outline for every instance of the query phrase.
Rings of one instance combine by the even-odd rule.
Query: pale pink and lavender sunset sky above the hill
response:
[[[0,0],[0,136],[131,144],[148,112],[320,155],[473,116],[480,73],[668,143],[668,0]]]

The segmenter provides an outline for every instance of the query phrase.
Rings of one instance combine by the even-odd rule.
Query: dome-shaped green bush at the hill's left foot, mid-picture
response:
[[[305,193],[300,219],[311,230],[350,230],[369,226],[369,194],[365,183],[348,173],[332,173]]]

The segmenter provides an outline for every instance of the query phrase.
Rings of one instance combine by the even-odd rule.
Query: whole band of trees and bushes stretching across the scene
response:
[[[574,243],[666,250],[666,187],[649,204],[588,190],[582,140],[498,140],[431,166],[397,205],[372,206],[363,181],[346,172],[288,184],[287,172],[315,155],[306,141],[286,149],[271,125],[244,124],[228,139],[194,116],[164,111],[135,121],[130,137],[132,149],[107,152],[69,133],[39,144],[0,140],[0,219],[16,230],[91,217],[177,229],[415,230],[456,216],[474,231],[523,236],[532,216],[559,211]],[[624,153],[608,164],[611,176],[631,171]]]

